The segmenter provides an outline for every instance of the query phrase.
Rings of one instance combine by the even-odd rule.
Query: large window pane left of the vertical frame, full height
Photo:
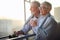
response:
[[[24,0],[0,0],[0,37],[20,30],[23,24]]]

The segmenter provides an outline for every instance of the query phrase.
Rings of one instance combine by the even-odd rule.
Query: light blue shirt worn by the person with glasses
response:
[[[47,17],[47,19],[46,19]],[[46,21],[44,22],[44,20]],[[44,24],[42,25],[42,23]],[[38,21],[38,28],[37,28],[37,37],[36,40],[47,40],[46,38],[55,30],[57,27],[57,22],[54,20],[54,18],[48,13],[45,16],[40,16]],[[41,26],[42,25],[42,26]]]

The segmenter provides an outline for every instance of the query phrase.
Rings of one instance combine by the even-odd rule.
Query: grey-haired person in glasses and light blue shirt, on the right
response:
[[[52,33],[54,32],[57,23],[50,15],[51,9],[52,5],[49,2],[45,1],[40,5],[40,20],[38,21],[38,26],[36,26],[36,40],[50,40],[49,37],[52,37]]]

